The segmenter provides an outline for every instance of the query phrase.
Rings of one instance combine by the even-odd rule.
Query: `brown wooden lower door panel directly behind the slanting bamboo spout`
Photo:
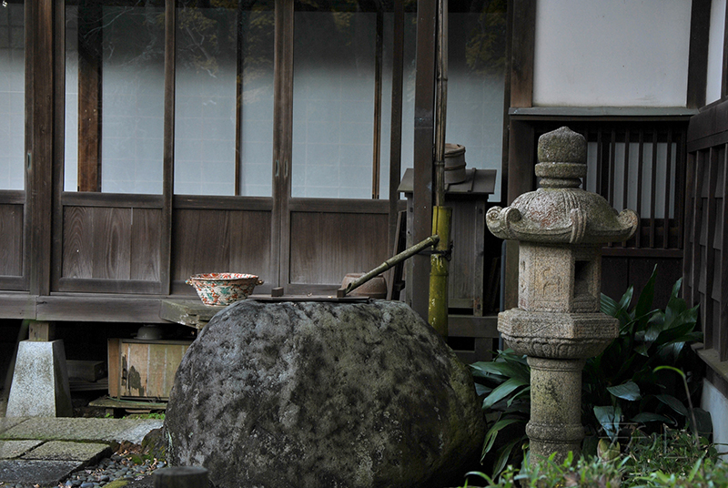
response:
[[[389,257],[387,214],[293,212],[291,283],[337,285]]]

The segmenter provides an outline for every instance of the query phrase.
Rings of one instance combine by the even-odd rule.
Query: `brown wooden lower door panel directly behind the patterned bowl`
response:
[[[173,229],[173,280],[209,272],[252,273],[266,282],[274,279],[269,211],[178,209]]]

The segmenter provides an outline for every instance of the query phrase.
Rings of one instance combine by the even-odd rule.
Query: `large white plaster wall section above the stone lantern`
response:
[[[691,2],[540,0],[535,106],[685,107]]]

